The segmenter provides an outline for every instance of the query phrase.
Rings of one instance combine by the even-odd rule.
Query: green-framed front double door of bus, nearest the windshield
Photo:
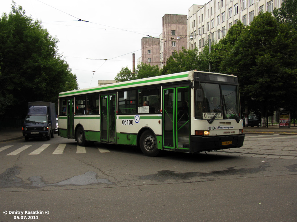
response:
[[[189,150],[189,87],[163,89],[163,146]]]

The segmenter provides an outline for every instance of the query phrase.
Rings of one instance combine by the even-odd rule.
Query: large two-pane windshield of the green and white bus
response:
[[[195,83],[195,118],[240,120],[238,86],[218,83]]]

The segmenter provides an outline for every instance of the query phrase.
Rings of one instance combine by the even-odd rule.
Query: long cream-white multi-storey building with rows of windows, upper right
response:
[[[260,11],[272,12],[282,0],[211,0],[204,5],[192,5],[188,9],[188,49],[198,48],[211,41],[219,41],[238,20],[249,25]]]

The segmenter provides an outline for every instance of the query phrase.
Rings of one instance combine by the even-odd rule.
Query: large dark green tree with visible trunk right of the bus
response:
[[[260,13],[222,61],[226,74],[238,76],[249,108],[260,110],[263,127],[268,111],[290,108],[296,100],[297,33],[291,27]]]

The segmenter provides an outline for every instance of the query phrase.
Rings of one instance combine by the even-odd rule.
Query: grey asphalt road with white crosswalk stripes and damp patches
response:
[[[297,221],[294,159],[146,157],[57,136],[0,150],[0,221]]]

